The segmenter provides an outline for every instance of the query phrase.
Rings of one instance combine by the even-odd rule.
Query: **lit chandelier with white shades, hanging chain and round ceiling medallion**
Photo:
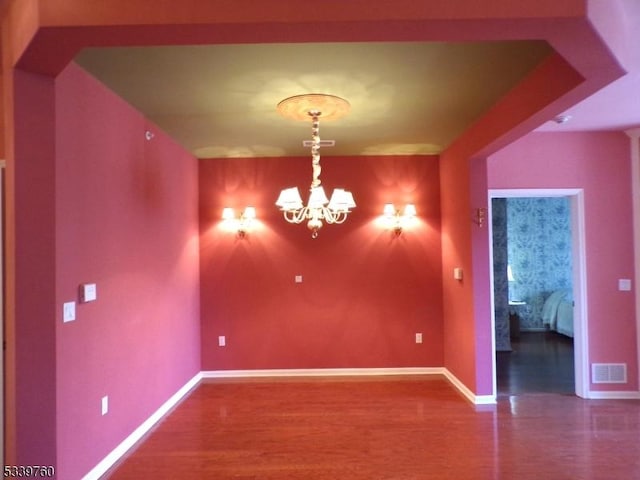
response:
[[[318,236],[323,222],[344,223],[350,209],[356,206],[351,192],[336,188],[327,198],[320,182],[320,146],[322,143],[333,145],[333,142],[320,141],[320,116],[323,120],[343,117],[349,112],[349,102],[335,95],[311,93],[285,98],[278,106],[278,112],[295,120],[311,120],[311,142],[303,142],[311,146],[311,168],[313,178],[309,188],[309,200],[302,203],[298,187],[285,188],[280,192],[276,205],[280,207],[284,218],[289,223],[302,223],[307,220],[311,237]]]

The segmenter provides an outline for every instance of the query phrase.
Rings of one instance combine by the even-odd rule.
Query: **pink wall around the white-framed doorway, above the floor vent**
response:
[[[629,138],[621,132],[532,133],[492,155],[489,188],[582,188],[586,228],[589,361],[627,363],[637,390],[635,301],[618,291],[633,279],[633,219]]]

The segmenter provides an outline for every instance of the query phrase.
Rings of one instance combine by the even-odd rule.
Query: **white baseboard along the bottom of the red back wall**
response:
[[[444,375],[442,367],[294,368],[273,370],[205,370],[202,378],[357,377],[384,375]]]

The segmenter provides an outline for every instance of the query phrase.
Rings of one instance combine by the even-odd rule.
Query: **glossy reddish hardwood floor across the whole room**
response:
[[[640,402],[500,396],[442,377],[208,381],[103,478],[640,478]]]

